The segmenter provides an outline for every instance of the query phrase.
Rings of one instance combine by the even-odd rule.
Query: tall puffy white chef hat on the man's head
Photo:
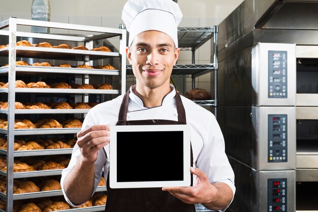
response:
[[[178,48],[178,25],[182,19],[179,5],[172,0],[129,0],[123,7],[123,22],[129,31],[128,46],[137,34],[157,30],[168,34]]]

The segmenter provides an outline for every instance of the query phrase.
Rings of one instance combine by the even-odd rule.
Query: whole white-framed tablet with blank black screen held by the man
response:
[[[110,128],[111,188],[190,186],[187,125],[126,125]]]

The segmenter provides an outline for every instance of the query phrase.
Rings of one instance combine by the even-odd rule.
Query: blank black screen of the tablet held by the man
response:
[[[117,132],[117,182],[182,180],[183,131]]]

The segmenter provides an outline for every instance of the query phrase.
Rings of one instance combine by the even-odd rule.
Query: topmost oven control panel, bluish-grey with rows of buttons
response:
[[[268,51],[268,98],[287,98],[287,51]]]

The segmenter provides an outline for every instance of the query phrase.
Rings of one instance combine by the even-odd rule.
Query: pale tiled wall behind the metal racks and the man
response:
[[[177,2],[183,13],[179,27],[208,27],[218,25],[243,0],[178,0]],[[51,0],[50,21],[118,28],[119,24],[123,24],[121,11],[125,3],[126,0]],[[0,21],[9,17],[31,19],[31,4],[32,0],[0,0]],[[60,33],[59,30],[50,29],[50,33]],[[28,28],[23,31],[28,31]],[[68,30],[68,33],[72,34],[74,31]],[[115,45],[115,48],[118,47]],[[197,64],[210,63],[210,48],[210,42],[206,42],[196,50]],[[192,52],[181,51],[177,63],[192,63]],[[197,77],[196,87],[211,90],[210,74]],[[134,78],[127,78],[127,88],[132,83]],[[192,89],[192,79],[186,78],[186,91],[190,89]]]

